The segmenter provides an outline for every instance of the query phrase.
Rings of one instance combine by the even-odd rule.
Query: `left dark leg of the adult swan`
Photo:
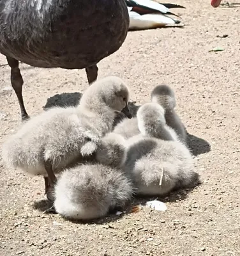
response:
[[[24,81],[20,73],[19,61],[8,56],[6,56],[6,60],[11,68],[11,86],[13,86],[13,90],[17,95],[17,99],[19,100],[22,121],[25,121],[29,118],[29,115],[27,115],[27,111],[24,107],[24,100],[22,99],[22,84],[24,84]]]

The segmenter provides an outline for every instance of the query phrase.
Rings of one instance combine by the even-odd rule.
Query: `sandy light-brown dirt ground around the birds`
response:
[[[0,159],[0,255],[240,255],[240,9],[214,9],[210,0],[169,2],[186,6],[174,10],[186,26],[130,32],[123,47],[98,65],[99,77],[125,79],[137,104],[149,100],[156,84],[174,88],[202,184],[160,198],[165,212],[143,207],[72,223],[43,214],[43,179],[6,170]],[[224,51],[209,52],[214,47]],[[5,64],[0,56],[1,143],[20,124]],[[56,94],[73,93],[67,96],[74,102],[88,86],[84,70],[20,68],[29,115],[43,111]],[[53,100],[61,102],[59,96]]]

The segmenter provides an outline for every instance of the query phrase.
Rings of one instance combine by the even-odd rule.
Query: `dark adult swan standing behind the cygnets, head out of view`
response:
[[[22,99],[19,61],[34,67],[86,68],[90,83],[96,64],[114,53],[128,33],[124,0],[1,0],[0,52],[11,67],[11,85]]]

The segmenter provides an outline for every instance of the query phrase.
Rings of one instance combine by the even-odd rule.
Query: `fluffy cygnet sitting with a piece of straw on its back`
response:
[[[154,120],[157,120],[154,115],[158,116],[155,126],[145,120],[149,109]],[[193,158],[188,148],[180,141],[169,140],[171,134],[165,129],[164,116],[159,118],[160,111],[162,108],[158,104],[141,106],[137,119],[142,134],[127,140],[128,149],[123,168],[138,195],[165,195],[173,189],[192,186],[199,177],[194,172]],[[161,131],[160,139],[157,139],[158,131]]]

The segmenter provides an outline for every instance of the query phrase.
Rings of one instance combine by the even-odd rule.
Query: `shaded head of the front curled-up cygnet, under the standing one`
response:
[[[126,161],[126,141],[120,134],[108,133],[101,139],[96,152],[96,160],[112,167],[120,168]]]

